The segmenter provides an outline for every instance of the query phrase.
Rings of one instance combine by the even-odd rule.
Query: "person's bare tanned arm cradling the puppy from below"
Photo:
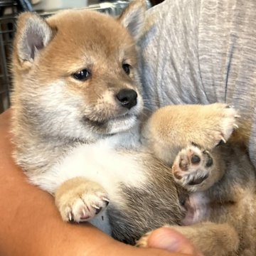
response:
[[[53,198],[29,184],[11,159],[10,117],[0,114],[0,255],[182,256],[124,245],[89,224],[64,223]]]

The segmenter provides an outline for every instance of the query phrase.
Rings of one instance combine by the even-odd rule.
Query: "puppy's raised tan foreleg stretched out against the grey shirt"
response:
[[[142,142],[166,164],[178,151],[198,144],[213,149],[226,142],[237,128],[237,111],[228,105],[176,105],[154,112],[142,128]]]

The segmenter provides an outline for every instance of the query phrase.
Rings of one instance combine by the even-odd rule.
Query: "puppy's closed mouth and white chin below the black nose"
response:
[[[137,119],[138,116],[136,114],[129,113],[103,120],[90,119],[90,117],[86,116],[83,117],[83,121],[87,125],[89,124],[92,129],[105,134],[114,134],[130,129]],[[119,127],[119,129],[117,129],[117,127]]]

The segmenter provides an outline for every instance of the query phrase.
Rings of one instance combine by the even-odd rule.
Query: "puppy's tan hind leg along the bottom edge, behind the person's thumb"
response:
[[[200,223],[191,226],[169,226],[193,242],[193,245],[205,256],[235,256],[238,255],[239,237],[235,229],[228,224]],[[149,236],[146,233],[137,246],[148,247]]]

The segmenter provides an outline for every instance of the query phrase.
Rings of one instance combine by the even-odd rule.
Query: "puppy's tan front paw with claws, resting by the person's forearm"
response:
[[[65,181],[55,193],[55,203],[65,221],[91,220],[110,202],[107,192],[99,184],[86,178]]]

